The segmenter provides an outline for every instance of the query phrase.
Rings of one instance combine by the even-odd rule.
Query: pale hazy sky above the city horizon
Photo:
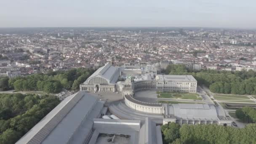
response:
[[[0,27],[256,28],[256,0],[0,0]]]

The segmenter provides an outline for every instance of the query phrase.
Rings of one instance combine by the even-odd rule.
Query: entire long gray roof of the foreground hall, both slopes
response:
[[[91,131],[93,125],[88,119],[97,117],[103,105],[103,102],[97,101],[96,97],[89,93],[75,93],[61,101],[16,144],[65,144],[72,141],[76,135],[86,136],[86,132]],[[81,129],[87,131],[80,132]],[[80,138],[85,139],[81,136]],[[83,141],[81,139],[76,140]]]

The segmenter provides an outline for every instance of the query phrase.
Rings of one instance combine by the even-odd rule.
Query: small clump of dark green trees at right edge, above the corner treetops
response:
[[[235,115],[244,123],[256,123],[256,109],[253,107],[239,108]]]

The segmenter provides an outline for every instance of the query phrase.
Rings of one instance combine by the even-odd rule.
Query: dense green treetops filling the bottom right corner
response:
[[[163,144],[253,144],[256,141],[256,124],[245,128],[222,125],[180,126],[169,123],[161,126]]]

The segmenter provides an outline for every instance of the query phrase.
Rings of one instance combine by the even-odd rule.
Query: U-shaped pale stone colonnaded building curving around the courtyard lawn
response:
[[[188,78],[189,77],[189,78]],[[160,78],[164,81],[164,78]],[[169,76],[170,79],[174,79],[173,75]],[[180,80],[184,78],[183,82]],[[187,81],[188,78],[191,81]],[[128,83],[131,81],[131,83]],[[192,76],[182,76],[179,77],[179,81],[176,83],[170,83],[170,88],[175,88],[175,85],[180,86],[179,89],[196,92],[196,82]],[[158,104],[158,103],[148,103],[144,101],[139,101],[133,98],[133,93],[136,91],[142,91],[144,89],[155,89],[157,85],[168,85],[167,82],[157,82],[157,81],[139,81],[139,84],[133,84],[133,80],[128,78],[125,80],[126,85],[123,88],[123,96],[125,105],[131,109],[139,112],[146,112],[152,114],[162,114],[163,124],[174,122],[182,124],[219,124],[219,125],[231,125],[232,120],[226,117],[225,111],[221,107],[216,107],[213,104]],[[160,84],[159,84],[160,83]],[[188,84],[186,84],[188,83]],[[155,86],[154,86],[155,85]],[[173,85],[173,86],[172,86]],[[135,86],[133,88],[131,87]],[[188,86],[186,88],[186,86]],[[138,87],[138,88],[136,88]],[[165,87],[165,86],[160,86]],[[129,93],[129,91],[131,91]]]

